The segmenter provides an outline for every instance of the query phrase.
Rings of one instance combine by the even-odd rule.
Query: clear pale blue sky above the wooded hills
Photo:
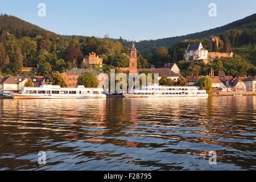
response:
[[[46,4],[46,17],[38,4]],[[208,15],[216,3],[217,17]],[[61,35],[150,40],[208,30],[256,13],[255,0],[93,0],[2,1],[0,13]]]

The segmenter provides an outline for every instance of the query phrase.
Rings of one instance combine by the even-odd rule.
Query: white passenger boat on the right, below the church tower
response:
[[[196,86],[161,86],[147,84],[137,90],[124,93],[124,97],[208,97],[206,90]]]

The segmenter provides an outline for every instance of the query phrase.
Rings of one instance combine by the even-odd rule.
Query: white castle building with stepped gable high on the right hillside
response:
[[[183,59],[189,61],[189,57],[192,57],[193,60],[207,60],[208,50],[203,48],[201,42],[198,44],[189,44],[183,54]]]

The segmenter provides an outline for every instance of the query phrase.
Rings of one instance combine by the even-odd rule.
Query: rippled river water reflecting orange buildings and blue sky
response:
[[[0,169],[255,170],[255,123],[256,96],[0,100]]]

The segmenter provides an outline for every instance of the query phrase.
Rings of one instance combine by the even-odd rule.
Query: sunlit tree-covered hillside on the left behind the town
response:
[[[108,37],[62,36],[25,22],[15,16],[0,15],[0,68],[17,75],[22,67],[39,67],[37,75],[63,72],[67,68],[86,68],[84,57],[95,52],[104,64],[128,67],[129,48]],[[138,67],[149,67],[138,53]]]

